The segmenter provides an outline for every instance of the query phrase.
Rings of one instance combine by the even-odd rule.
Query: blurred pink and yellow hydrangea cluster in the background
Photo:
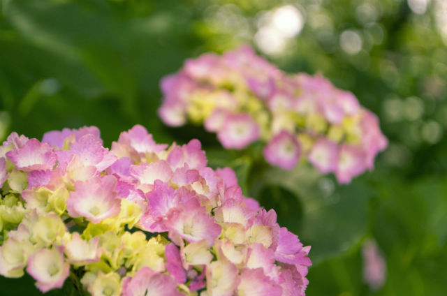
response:
[[[287,75],[249,46],[189,59],[161,89],[165,124],[203,124],[227,149],[261,140],[265,160],[286,170],[307,159],[349,183],[388,145],[377,117],[351,92],[321,75]]]

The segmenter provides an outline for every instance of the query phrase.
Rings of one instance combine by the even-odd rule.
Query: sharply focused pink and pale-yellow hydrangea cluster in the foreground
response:
[[[98,128],[12,133],[0,147],[0,274],[45,293],[305,295],[307,254],[273,209],[207,167],[198,140],[159,145],[142,126],[112,149]]]

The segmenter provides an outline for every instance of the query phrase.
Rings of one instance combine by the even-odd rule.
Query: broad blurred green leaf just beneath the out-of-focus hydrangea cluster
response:
[[[291,194],[282,191],[282,202],[291,209],[281,219],[295,221],[291,227],[299,229],[297,234],[303,244],[312,246],[309,257],[315,265],[349,251],[367,233],[368,201],[374,191],[358,179],[338,186],[314,168],[300,165],[291,171],[271,168],[260,182],[282,186],[300,198],[300,202],[291,203]],[[327,186],[322,186],[324,183],[332,186],[329,192]],[[284,207],[279,201],[276,203],[277,207]]]

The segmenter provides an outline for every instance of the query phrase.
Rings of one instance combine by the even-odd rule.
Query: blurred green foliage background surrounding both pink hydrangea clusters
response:
[[[273,51],[262,30],[285,5],[298,9],[304,27],[276,40],[280,50]],[[441,6],[443,0],[0,0],[0,138],[95,125],[110,145],[133,124],[158,142],[199,138],[210,165],[235,168],[244,192],[276,209],[281,225],[312,245],[307,295],[445,295]],[[305,165],[284,172],[223,151],[200,127],[163,126],[156,115],[161,77],[188,57],[241,43],[254,44],[286,71],[323,73],[378,114],[390,147],[376,170],[338,186]],[[362,282],[367,237],[387,261],[386,284],[375,292]],[[29,277],[0,278],[0,295],[25,291],[39,295]]]

